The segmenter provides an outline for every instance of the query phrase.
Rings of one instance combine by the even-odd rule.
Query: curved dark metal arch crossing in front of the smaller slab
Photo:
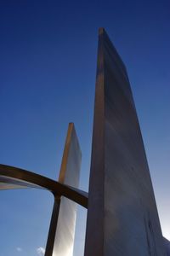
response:
[[[0,164],[0,190],[26,188],[47,189],[55,197],[63,195],[82,207],[88,208],[88,193],[34,172]]]

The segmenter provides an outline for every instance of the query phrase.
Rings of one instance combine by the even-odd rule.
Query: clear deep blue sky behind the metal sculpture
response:
[[[57,178],[73,121],[82,148],[80,187],[88,190],[99,26],[127,66],[162,232],[170,239],[169,0],[1,0],[0,163]],[[38,255],[52,195],[1,191],[0,201],[0,256]],[[74,256],[83,255],[85,219],[80,207]]]

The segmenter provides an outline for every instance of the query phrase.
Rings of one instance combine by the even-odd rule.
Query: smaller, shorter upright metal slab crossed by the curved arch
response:
[[[74,125],[71,123],[69,124],[65,141],[65,150],[59,172],[59,183],[65,183],[74,188],[78,187],[81,159],[82,154],[77,134]],[[61,198],[55,197],[45,256],[72,255],[76,214],[77,205],[75,202],[63,196]]]

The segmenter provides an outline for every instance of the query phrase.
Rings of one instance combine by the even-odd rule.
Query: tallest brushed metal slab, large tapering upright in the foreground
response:
[[[127,71],[102,28],[84,255],[166,255]]]

